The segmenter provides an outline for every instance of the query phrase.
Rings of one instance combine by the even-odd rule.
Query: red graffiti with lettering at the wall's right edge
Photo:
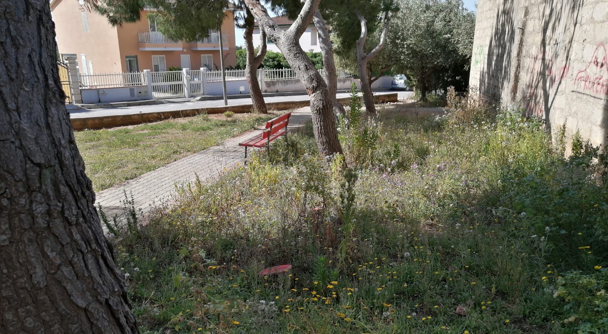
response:
[[[576,73],[575,83],[586,92],[608,95],[608,54],[604,43],[596,46],[587,67]]]

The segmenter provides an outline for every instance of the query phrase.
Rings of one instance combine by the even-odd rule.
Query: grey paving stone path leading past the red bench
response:
[[[303,107],[292,112],[289,119],[289,131],[300,128],[311,119],[310,108]],[[261,128],[260,128],[261,129]],[[181,158],[154,171],[147,172],[133,180],[120,183],[96,194],[95,206],[101,205],[109,218],[120,216],[122,204],[127,196],[133,196],[134,205],[143,213],[151,205],[168,200],[175,191],[176,183],[187,183],[198,176],[202,181],[218,177],[225,169],[234,168],[244,161],[244,148],[238,146],[240,141],[257,135],[259,129],[250,130],[238,137],[230,138],[223,143],[204,149],[201,152]]]

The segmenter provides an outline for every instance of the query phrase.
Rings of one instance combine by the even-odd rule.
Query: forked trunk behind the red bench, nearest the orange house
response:
[[[255,54],[254,49],[254,15],[250,12],[249,9],[245,9],[245,52],[246,52],[246,66],[245,73],[247,76],[247,84],[249,85],[249,95],[251,96],[251,101],[253,104],[254,112],[261,112],[263,114],[268,114],[268,108],[266,107],[266,101],[264,101],[264,96],[262,95],[262,90],[260,89],[260,82],[258,81],[258,67],[260,67],[262,61],[264,61],[264,56],[266,56],[266,32],[264,29],[260,29],[260,50],[258,50],[257,55]]]

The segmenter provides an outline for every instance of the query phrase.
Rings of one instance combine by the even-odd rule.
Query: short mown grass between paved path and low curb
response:
[[[133,179],[230,137],[274,115],[198,115],[114,129],[75,132],[95,191]]]

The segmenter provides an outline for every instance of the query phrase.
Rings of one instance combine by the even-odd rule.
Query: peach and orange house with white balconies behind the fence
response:
[[[89,12],[83,0],[52,0],[57,46],[61,55],[78,59],[81,73],[139,72],[167,70],[169,67],[215,70],[219,65],[219,35],[208,35],[193,43],[174,41],[157,30],[156,22],[142,19],[112,27],[105,16]],[[233,12],[226,11],[222,25],[224,66],[237,64]]]

